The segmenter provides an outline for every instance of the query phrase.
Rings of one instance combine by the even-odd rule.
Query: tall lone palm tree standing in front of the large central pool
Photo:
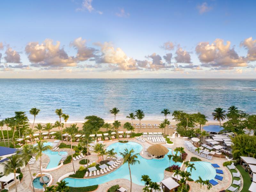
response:
[[[128,163],[129,172],[130,172],[130,180],[131,180],[130,192],[132,192],[132,174],[131,174],[130,165],[134,165],[134,164],[137,164],[137,163],[140,164],[140,161],[137,160],[139,153],[136,153],[136,154],[133,154],[133,153],[134,153],[133,149],[128,151],[127,148],[124,149],[123,153],[120,152],[120,155],[123,156],[123,159],[124,159],[123,164]]]

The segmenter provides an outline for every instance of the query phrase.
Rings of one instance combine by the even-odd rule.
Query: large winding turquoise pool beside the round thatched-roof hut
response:
[[[139,143],[128,142],[128,143],[113,143],[108,146],[107,150],[114,148],[115,152],[123,152],[125,148],[128,150],[133,149],[135,153],[140,153],[143,149]],[[169,149],[167,155],[171,154],[172,149]],[[167,156],[166,155],[166,156]],[[164,169],[169,166],[169,159],[165,157],[164,159],[145,159],[138,155],[138,160],[140,164],[135,164],[131,166],[132,173],[132,182],[138,185],[144,185],[144,182],[141,181],[141,175],[148,175],[150,179],[154,182],[159,182],[164,179]],[[171,165],[175,164],[174,161],[171,160]],[[180,162],[176,163],[177,165],[181,165]],[[129,168],[128,164],[124,164],[119,167],[116,171],[111,172],[107,175],[93,178],[93,179],[74,179],[74,178],[65,178],[64,180],[68,182],[68,186],[70,187],[85,187],[91,185],[98,185],[102,183],[106,183],[110,180],[114,179],[128,179],[130,180]]]

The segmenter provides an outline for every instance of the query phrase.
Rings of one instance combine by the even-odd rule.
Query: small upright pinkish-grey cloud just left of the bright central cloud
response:
[[[70,46],[73,46],[77,50],[76,59],[78,61],[85,61],[92,57],[97,57],[95,53],[98,52],[98,50],[92,47],[86,47],[85,43],[86,40],[83,40],[82,37],[76,38],[70,43]]]

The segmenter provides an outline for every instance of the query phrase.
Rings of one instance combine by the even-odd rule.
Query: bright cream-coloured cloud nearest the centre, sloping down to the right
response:
[[[104,44],[96,43],[101,47],[102,55],[96,58],[96,63],[108,63],[112,70],[136,70],[136,61],[128,57],[121,48],[114,48],[109,42]]]

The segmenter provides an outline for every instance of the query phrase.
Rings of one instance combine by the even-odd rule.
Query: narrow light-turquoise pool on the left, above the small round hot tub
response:
[[[45,142],[44,146],[46,145],[52,145],[52,142]],[[43,152],[45,155],[48,155],[50,158],[50,162],[48,163],[46,169],[51,169],[53,167],[57,167],[58,164],[60,163],[60,160],[62,159],[61,155],[67,155],[68,152],[66,151],[52,151],[52,150],[47,150]]]

